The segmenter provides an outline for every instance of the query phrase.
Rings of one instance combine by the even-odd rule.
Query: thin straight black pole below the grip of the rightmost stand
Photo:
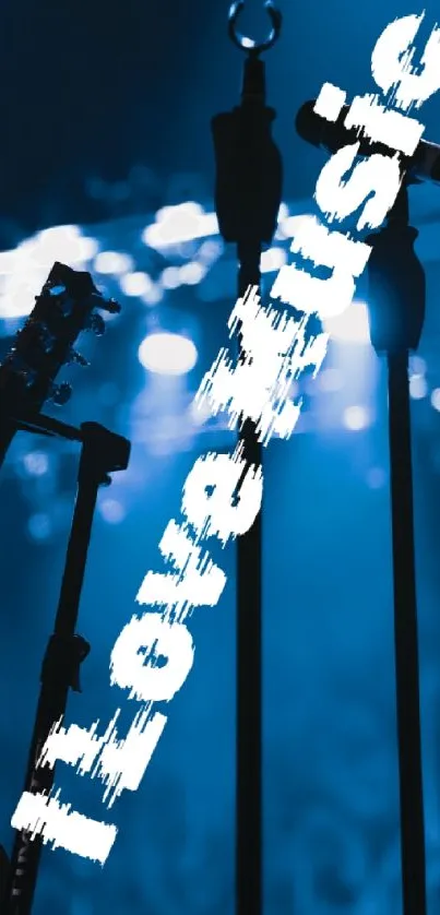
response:
[[[426,915],[408,354],[388,358],[394,650],[404,915]]]

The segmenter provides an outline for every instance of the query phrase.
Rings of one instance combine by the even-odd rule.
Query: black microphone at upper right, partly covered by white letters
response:
[[[359,156],[394,155],[396,150],[391,150],[383,143],[369,140],[358,128],[346,128],[344,120],[349,110],[349,105],[344,105],[336,121],[328,121],[313,110],[316,102],[306,102],[299,109],[295,127],[298,135],[306,143],[325,150],[328,153],[336,153],[344,146],[359,143]],[[420,181],[435,181],[440,183],[440,146],[437,143],[428,143],[420,140],[415,153],[412,156],[402,154],[403,163],[407,173]]]

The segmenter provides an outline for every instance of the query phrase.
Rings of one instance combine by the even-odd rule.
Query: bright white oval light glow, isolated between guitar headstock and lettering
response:
[[[138,355],[141,365],[156,375],[187,375],[198,360],[192,340],[170,333],[148,334]]]

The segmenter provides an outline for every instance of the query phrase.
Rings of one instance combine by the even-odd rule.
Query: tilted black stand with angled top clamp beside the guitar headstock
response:
[[[83,423],[80,429],[46,416],[15,421],[15,428],[44,435],[58,435],[82,443],[78,494],[69,538],[61,593],[40,675],[40,693],[31,741],[24,791],[50,794],[55,768],[39,765],[39,757],[53,724],[66,714],[69,689],[81,692],[80,665],[90,644],[75,633],[81,591],[91,540],[92,523],[99,486],[111,483],[109,473],[124,471],[130,442],[97,423]],[[43,840],[29,832],[16,833],[10,865],[4,915],[31,915],[38,877]]]

